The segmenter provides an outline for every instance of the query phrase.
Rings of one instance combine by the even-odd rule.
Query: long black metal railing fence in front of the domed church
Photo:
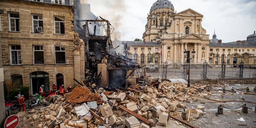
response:
[[[134,75],[138,78],[148,76],[153,80],[166,79],[216,79],[216,78],[256,78],[256,65],[209,65],[207,63],[201,65],[191,65],[188,71],[188,64],[183,65],[143,65],[134,71]]]

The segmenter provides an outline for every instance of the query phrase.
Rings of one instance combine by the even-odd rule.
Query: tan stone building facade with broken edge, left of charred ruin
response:
[[[83,43],[74,34],[73,6],[3,0],[0,4],[4,85],[7,91],[29,86],[29,94],[83,79]]]

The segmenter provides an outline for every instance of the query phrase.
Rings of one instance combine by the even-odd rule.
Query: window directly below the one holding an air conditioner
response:
[[[34,45],[34,64],[44,64],[44,46]]]

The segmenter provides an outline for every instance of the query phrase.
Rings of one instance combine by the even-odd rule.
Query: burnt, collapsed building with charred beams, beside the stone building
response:
[[[84,82],[87,85],[101,87],[125,87],[135,84],[132,71],[136,63],[122,53],[117,53],[111,40],[114,31],[108,20],[96,17],[90,11],[90,4],[81,4],[75,1],[74,25],[84,44]],[[125,49],[123,49],[125,50]],[[95,84],[95,85],[94,85]]]

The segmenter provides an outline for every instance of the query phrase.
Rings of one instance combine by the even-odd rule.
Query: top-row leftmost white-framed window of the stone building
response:
[[[19,32],[20,31],[20,15],[19,13],[9,13],[9,26],[10,26],[10,31],[15,31]]]

